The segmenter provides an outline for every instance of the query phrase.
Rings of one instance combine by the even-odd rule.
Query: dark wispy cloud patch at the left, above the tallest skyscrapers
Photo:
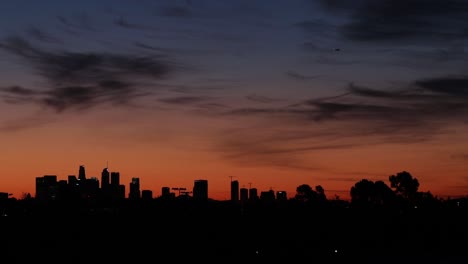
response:
[[[41,89],[5,87],[0,91],[3,99],[36,103],[57,112],[105,103],[124,105],[151,92],[135,80],[164,80],[177,69],[161,55],[48,51],[21,37],[3,40],[0,48],[23,59],[47,81]]]

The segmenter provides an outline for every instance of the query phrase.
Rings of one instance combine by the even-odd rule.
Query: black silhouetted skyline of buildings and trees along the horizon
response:
[[[78,176],[77,176],[78,175]],[[108,163],[106,167],[102,169],[101,177],[87,176],[85,165],[79,165],[78,174],[71,174],[67,176],[67,179],[60,179],[57,175],[44,175],[35,178],[35,192],[31,195],[29,192],[23,192],[21,195],[22,200],[35,198],[40,201],[53,201],[53,200],[73,200],[73,199],[95,199],[95,200],[139,200],[153,198],[194,198],[198,200],[220,200],[214,199],[210,196],[209,184],[207,179],[194,179],[192,188],[190,187],[175,187],[162,186],[160,188],[159,195],[153,196],[155,193],[153,190],[142,188],[139,177],[131,177],[131,181],[128,185],[121,182],[120,172],[109,170]],[[298,185],[295,192],[289,194],[295,195],[293,198],[288,196],[288,192],[279,188],[273,189],[270,187],[268,190],[258,190],[252,188],[252,183],[248,183],[249,187],[246,188],[245,184],[240,186],[240,182],[236,176],[228,176],[229,181],[229,198],[221,199],[229,201],[248,201],[258,200],[261,198],[272,199],[272,200],[288,200],[297,199],[304,193],[312,192],[314,195],[321,196],[322,200],[326,200],[325,189],[322,185],[315,185],[315,191],[312,189],[311,184],[302,183]],[[236,178],[234,180],[234,178]],[[377,195],[379,199],[384,199],[389,195],[399,195],[405,200],[415,198],[414,195],[418,194],[419,199],[433,199],[438,201],[452,200],[452,198],[468,199],[468,195],[462,197],[439,197],[433,195],[430,190],[421,191],[419,180],[411,175],[407,171],[401,171],[388,177],[388,184],[385,181],[377,180],[373,181],[368,178],[360,179],[355,182],[353,186],[349,188],[350,199],[343,199],[340,196],[334,194],[335,200],[343,202],[356,203],[359,200],[369,202],[374,199]],[[375,187],[374,187],[375,186]],[[304,190],[308,188],[310,190]],[[367,190],[366,190],[367,189]],[[364,191],[365,190],[365,191]],[[379,194],[375,194],[377,192]],[[15,199],[17,198],[10,192],[0,192],[3,199]],[[359,198],[365,195],[366,198]],[[269,197],[269,198],[268,198]],[[330,196],[329,196],[330,197]],[[380,202],[379,202],[380,203]]]

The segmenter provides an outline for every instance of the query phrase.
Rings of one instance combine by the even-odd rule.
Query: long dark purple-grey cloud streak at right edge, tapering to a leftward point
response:
[[[371,89],[350,84],[345,93],[307,99],[284,107],[234,109],[231,114],[302,116],[308,121],[397,123],[413,127],[432,121],[461,120],[468,111],[468,77],[416,80],[401,89]]]

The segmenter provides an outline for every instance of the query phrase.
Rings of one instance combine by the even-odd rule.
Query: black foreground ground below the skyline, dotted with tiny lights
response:
[[[182,209],[3,217],[0,263],[468,263],[464,210]]]

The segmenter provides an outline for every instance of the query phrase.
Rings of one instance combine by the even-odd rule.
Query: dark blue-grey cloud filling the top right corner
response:
[[[466,39],[468,2],[460,0],[322,0],[325,10],[346,15],[339,32],[371,42],[446,43]]]

